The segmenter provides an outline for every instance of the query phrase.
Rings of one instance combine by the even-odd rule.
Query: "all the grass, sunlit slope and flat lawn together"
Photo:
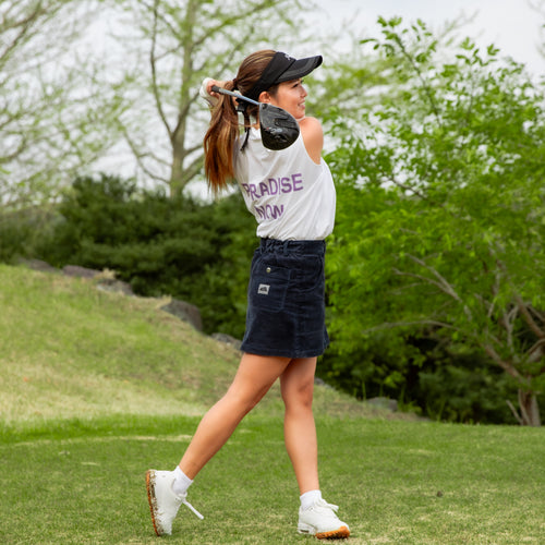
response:
[[[0,543],[304,544],[278,389],[198,475],[173,535],[144,473],[178,462],[237,352],[93,282],[0,266]],[[316,390],[320,477],[350,544],[545,543],[540,428],[397,420]]]

